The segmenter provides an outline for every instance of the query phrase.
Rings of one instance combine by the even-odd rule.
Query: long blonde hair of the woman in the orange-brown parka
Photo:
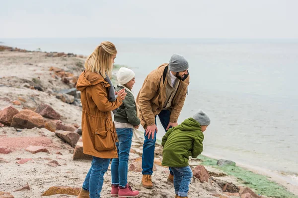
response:
[[[85,69],[106,78],[106,74],[110,72],[113,66],[112,55],[117,54],[117,49],[109,41],[102,42],[88,56],[85,61]]]

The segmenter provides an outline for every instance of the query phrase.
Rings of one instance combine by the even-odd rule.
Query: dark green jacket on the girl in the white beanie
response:
[[[117,86],[116,91],[124,89],[124,87]],[[134,126],[140,125],[141,121],[137,116],[136,102],[134,96],[130,92],[126,92],[127,95],[122,101],[123,104],[119,107],[115,113],[115,121],[122,123],[131,123]]]

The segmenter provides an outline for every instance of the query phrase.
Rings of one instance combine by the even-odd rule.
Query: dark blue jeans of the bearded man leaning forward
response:
[[[170,110],[161,110],[158,114],[159,120],[164,128],[165,131],[167,125],[170,122]],[[155,124],[156,124],[156,116],[155,116]],[[153,162],[154,162],[154,149],[155,149],[155,142],[156,142],[156,131],[154,132],[154,139],[148,138],[146,136],[146,131],[144,133],[144,144],[143,144],[143,155],[142,155],[142,174],[143,175],[152,175],[153,173]],[[173,175],[173,172],[170,170],[170,174]]]

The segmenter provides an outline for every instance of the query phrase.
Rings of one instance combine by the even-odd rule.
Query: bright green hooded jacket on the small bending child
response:
[[[196,158],[203,151],[204,135],[199,122],[193,118],[184,120],[169,129],[162,137],[162,165],[169,167],[188,166],[188,158]]]

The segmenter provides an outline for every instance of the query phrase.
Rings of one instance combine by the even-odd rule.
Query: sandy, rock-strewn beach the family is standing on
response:
[[[81,137],[77,140],[78,136],[71,135],[72,133],[79,134],[77,132],[81,123],[81,106],[78,93],[74,91],[70,94],[66,90],[75,88],[77,77],[84,69],[84,60],[83,56],[75,54],[7,49],[0,51],[0,110],[12,106],[19,112],[24,109],[31,112],[35,111],[38,106],[47,104],[61,115],[59,119],[44,116],[42,118],[44,126],[40,128],[23,129],[7,125],[0,127],[0,150],[2,150],[0,152],[0,193],[9,193],[5,194],[6,197],[3,193],[3,195],[0,194],[0,198],[41,198],[51,187],[70,187],[72,192],[77,192],[77,189],[81,188],[91,161],[82,159],[83,157],[74,160],[76,149],[81,147],[82,143]],[[55,126],[50,127],[49,125],[53,123]],[[52,128],[54,130],[50,131]],[[69,137],[75,138],[66,140],[55,134],[55,132],[63,133],[66,130],[67,134],[71,134]],[[71,146],[72,143],[75,143],[76,147],[73,145],[75,148]],[[30,146],[44,147],[47,152],[32,153],[28,151]],[[141,198],[174,198],[173,184],[167,182],[168,168],[161,166],[162,148],[160,145],[156,145],[155,148],[156,171],[152,175],[155,188],[149,190],[142,187],[142,173],[140,172],[142,146],[143,136],[134,138],[129,161],[129,184],[140,191]],[[200,159],[190,160],[192,168],[201,163]],[[242,166],[248,168],[248,166]],[[248,188],[244,190],[246,184],[237,177],[227,175],[215,166],[204,165],[204,167],[209,174],[208,178],[206,181],[200,181],[199,178],[193,177],[189,198],[249,198],[247,194],[251,197],[258,197],[256,194],[247,193]],[[253,171],[272,177],[265,171]],[[199,171],[199,174],[206,177],[204,171]],[[292,194],[287,194],[288,197],[295,198],[293,194],[298,195],[297,186],[282,183],[279,178],[275,177],[271,180],[280,183],[291,192]],[[225,187],[220,186],[223,183]],[[28,185],[30,190],[16,191],[25,185]],[[111,197],[110,185],[111,171],[109,168],[105,174],[102,198]],[[232,192],[227,186],[237,187],[238,191]],[[256,189],[252,191],[256,192]],[[76,197],[71,194],[56,194],[48,197]],[[262,195],[262,198],[265,197],[267,196]]]

